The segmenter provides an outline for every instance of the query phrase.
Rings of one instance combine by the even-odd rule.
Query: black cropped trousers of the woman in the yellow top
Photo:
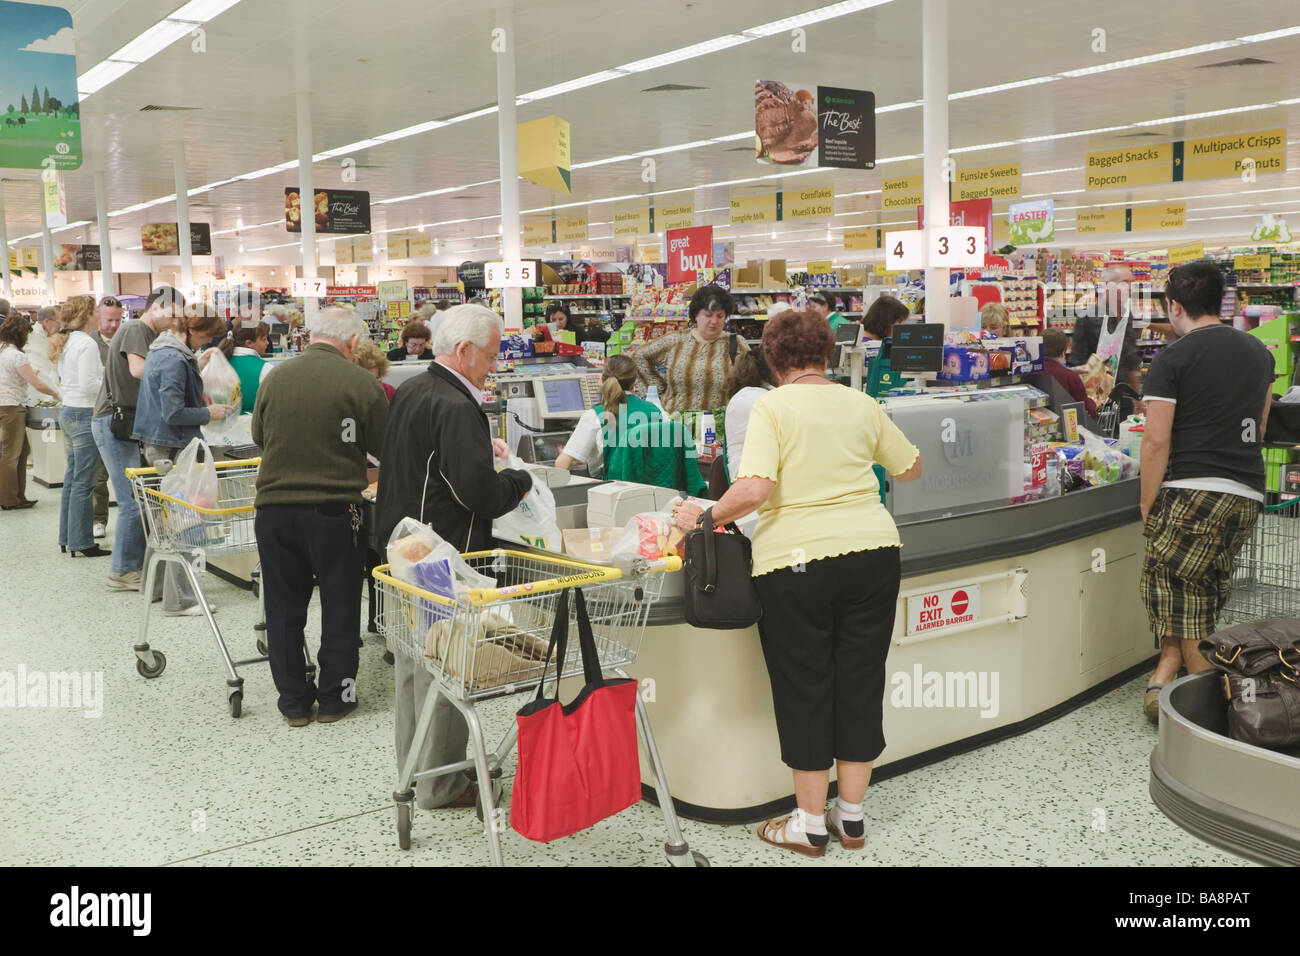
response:
[[[853,551],[754,579],[781,761],[827,770],[885,749],[885,656],[902,567],[897,548]]]

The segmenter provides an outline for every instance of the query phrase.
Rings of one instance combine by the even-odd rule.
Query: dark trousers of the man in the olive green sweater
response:
[[[280,713],[306,717],[339,713],[356,701],[361,646],[361,548],[347,505],[269,505],[254,518],[261,587],[266,602],[270,676]],[[321,588],[321,648],[317,684],[303,658],[307,605],[313,580]]]

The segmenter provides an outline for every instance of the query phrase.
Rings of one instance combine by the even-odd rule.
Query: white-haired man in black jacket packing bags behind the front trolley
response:
[[[482,306],[458,306],[445,312],[434,338],[436,362],[407,381],[393,397],[380,470],[377,541],[403,518],[416,518],[456,550],[493,546],[491,523],[512,511],[532,488],[528,472],[498,472],[494,458],[507,455],[506,442],[493,438],[482,408],[482,386],[497,367],[500,319]],[[398,767],[407,758],[416,721],[429,689],[429,674],[419,661],[398,654]],[[439,697],[417,770],[465,758],[469,728],[446,697]],[[478,791],[463,774],[420,780],[421,809],[473,806]]]

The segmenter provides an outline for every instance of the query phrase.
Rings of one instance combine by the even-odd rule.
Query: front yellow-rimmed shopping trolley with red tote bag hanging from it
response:
[[[478,814],[486,821],[491,862],[500,866],[502,765],[515,748],[517,728],[512,723],[500,745],[488,750],[474,705],[537,688],[545,674],[556,605],[566,588],[582,589],[602,671],[628,676],[623,667],[637,658],[650,606],[663,591],[663,575],[680,568],[681,562],[679,558],[656,562],[636,558],[621,567],[601,567],[512,550],[474,551],[463,557],[474,571],[494,578],[497,587],[469,591],[458,601],[396,580],[387,564],[372,572],[380,598],[380,632],[391,639],[398,654],[413,658],[415,665],[425,667],[432,676],[393,793],[398,845],[411,848],[415,782],[473,769],[478,780]],[[571,609],[571,614],[576,614],[576,609]],[[582,671],[577,641],[568,649],[564,669],[569,674]],[[429,735],[438,695],[464,715],[473,757],[417,773],[416,763]],[[650,717],[640,695],[637,727],[654,770],[659,808],[668,830],[664,845],[668,862],[707,866],[703,855],[692,851],[682,839]]]

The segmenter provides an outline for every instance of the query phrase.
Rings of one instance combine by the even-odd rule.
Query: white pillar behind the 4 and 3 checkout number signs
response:
[[[948,225],[948,0],[922,0],[922,125],[926,155],[926,232]],[[926,248],[930,248],[927,238]],[[948,269],[926,269],[926,321],[948,326]]]

